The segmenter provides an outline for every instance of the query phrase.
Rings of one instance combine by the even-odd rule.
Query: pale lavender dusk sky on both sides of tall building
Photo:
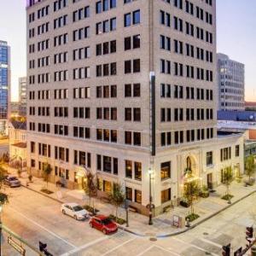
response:
[[[0,40],[11,46],[12,99],[26,76],[26,0],[1,0]],[[256,1],[217,0],[217,48],[246,66],[246,99],[256,102]]]

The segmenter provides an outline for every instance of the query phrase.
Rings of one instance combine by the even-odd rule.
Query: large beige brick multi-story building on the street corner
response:
[[[215,10],[212,0],[30,1],[32,173],[47,162],[52,182],[80,189],[90,170],[99,195],[122,183],[143,213],[151,183],[155,214],[182,196],[185,170],[220,183],[243,155],[241,136],[217,135]]]

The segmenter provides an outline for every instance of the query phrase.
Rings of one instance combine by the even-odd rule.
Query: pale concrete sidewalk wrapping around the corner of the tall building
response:
[[[14,168],[9,167],[9,172],[17,175]],[[20,177],[20,182],[23,186],[26,187],[27,181],[27,174],[26,172],[23,172],[22,177]],[[89,203],[89,199],[84,194],[84,191],[56,188],[55,184],[49,183],[48,189],[54,193],[46,195],[40,191],[42,188],[46,188],[46,183],[43,181],[43,179],[37,177],[33,177],[32,183],[29,183],[29,186],[27,187],[27,189],[32,189],[33,191],[48,196],[49,198],[55,201],[59,201],[60,203],[77,202],[82,206]],[[189,208],[185,207],[174,207],[174,209],[172,209],[170,212],[166,212],[160,216],[155,217],[153,219],[154,224],[151,226],[148,225],[147,216],[136,212],[129,212],[129,227],[125,227],[124,224],[123,226],[120,226],[120,229],[134,233],[137,236],[174,236],[194,228],[196,225],[201,224],[208,218],[212,218],[218,214],[218,212],[222,212],[226,208],[234,205],[236,202],[241,201],[244,197],[255,193],[256,186],[253,185],[252,187],[244,187],[243,183],[234,182],[230,186],[230,191],[231,194],[234,195],[231,200],[231,205],[229,205],[227,201],[221,199],[221,196],[225,193],[225,187],[223,185],[219,186],[216,189],[216,192],[211,193],[208,198],[202,198],[200,201],[195,203],[195,212],[200,215],[200,218],[197,218],[195,221],[193,221],[190,228],[176,228],[172,226],[173,215],[185,218],[185,216],[189,214],[190,210]],[[102,202],[99,199],[95,200],[95,207],[105,215],[114,214],[115,212],[115,209],[111,204]],[[119,218],[125,219],[125,213],[126,212],[124,208],[119,208]]]

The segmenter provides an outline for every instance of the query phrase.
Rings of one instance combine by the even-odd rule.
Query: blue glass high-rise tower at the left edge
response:
[[[0,41],[0,133],[7,132],[9,119],[10,91],[10,49],[5,41]]]

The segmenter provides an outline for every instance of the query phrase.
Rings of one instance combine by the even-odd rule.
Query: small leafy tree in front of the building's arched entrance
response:
[[[198,200],[201,192],[201,186],[198,180],[192,180],[184,183],[183,197],[188,201],[191,214],[194,214],[194,203]]]

